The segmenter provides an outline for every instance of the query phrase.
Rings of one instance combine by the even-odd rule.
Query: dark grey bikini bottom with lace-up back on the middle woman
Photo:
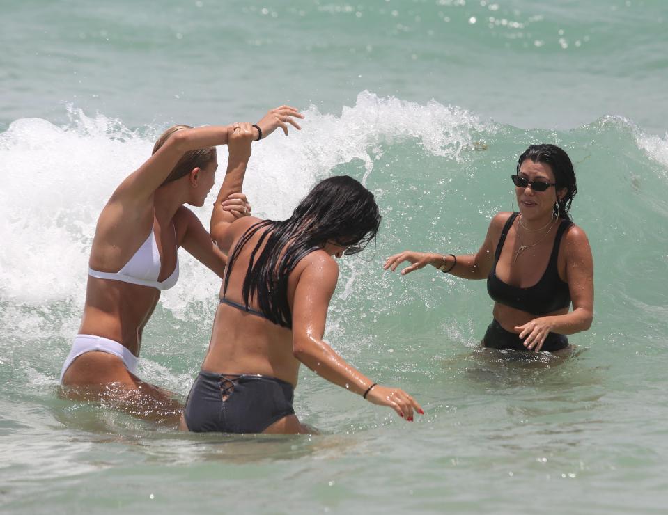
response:
[[[293,386],[258,374],[215,374],[202,370],[183,415],[195,433],[261,433],[294,415]]]

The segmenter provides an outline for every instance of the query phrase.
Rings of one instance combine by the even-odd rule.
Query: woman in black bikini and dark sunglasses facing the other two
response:
[[[384,268],[407,261],[403,275],[431,264],[461,278],[486,278],[494,319],[483,347],[559,351],[568,347],[566,335],[587,331],[593,318],[591,248],[568,216],[575,171],[561,148],[531,145],[511,178],[520,210],[498,213],[477,253],[405,251]]]

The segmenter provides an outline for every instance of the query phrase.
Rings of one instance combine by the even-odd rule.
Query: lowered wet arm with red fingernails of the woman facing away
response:
[[[293,354],[316,374],[366,400],[388,406],[413,420],[413,411],[424,413],[417,402],[399,388],[380,386],[347,363],[323,341],[327,308],[332,299],[339,267],[327,255],[313,253],[295,289],[293,302]]]

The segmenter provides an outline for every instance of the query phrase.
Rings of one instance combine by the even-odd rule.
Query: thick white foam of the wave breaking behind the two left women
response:
[[[382,143],[417,140],[427,154],[458,160],[472,144],[473,132],[490,129],[463,109],[368,92],[358,95],[355,106],[344,107],[341,116],[313,106],[304,115],[301,132],[291,130],[285,138],[279,130],[254,145],[244,189],[257,216],[289,216],[317,180],[354,159],[364,162],[368,177]],[[142,134],[149,139],[119,120],[70,108],[65,127],[24,118],[0,134],[2,299],[23,306],[82,305],[98,214],[114,188],[150,155],[160,130],[147,127]],[[219,148],[216,185],[208,205],[195,209],[205,227],[226,158],[226,148]],[[217,277],[185,253],[181,260],[182,279],[163,299],[177,316],[185,316],[193,302],[211,301],[219,286]]]

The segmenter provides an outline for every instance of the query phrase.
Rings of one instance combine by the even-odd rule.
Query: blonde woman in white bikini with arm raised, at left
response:
[[[297,109],[272,109],[253,126],[254,139],[268,136]],[[182,246],[220,277],[226,256],[184,204],[204,205],[218,167],[216,145],[226,145],[240,125],[192,128],[177,125],[160,138],[151,157],[123,180],[102,209],[91,248],[84,316],[61,372],[70,399],[104,399],[123,411],[173,421],[180,403],[136,375],[141,333],[160,292],[178,279]],[[246,166],[230,154],[228,171]],[[234,216],[249,212],[246,198],[233,195],[222,207]]]

